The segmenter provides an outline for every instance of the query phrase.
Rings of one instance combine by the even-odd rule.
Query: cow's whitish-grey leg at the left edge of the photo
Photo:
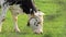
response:
[[[1,32],[1,28],[2,28],[2,22],[4,20],[4,16],[6,16],[6,13],[7,13],[7,10],[9,9],[9,4],[6,3],[6,4],[1,4],[1,14],[0,14],[0,32]]]

